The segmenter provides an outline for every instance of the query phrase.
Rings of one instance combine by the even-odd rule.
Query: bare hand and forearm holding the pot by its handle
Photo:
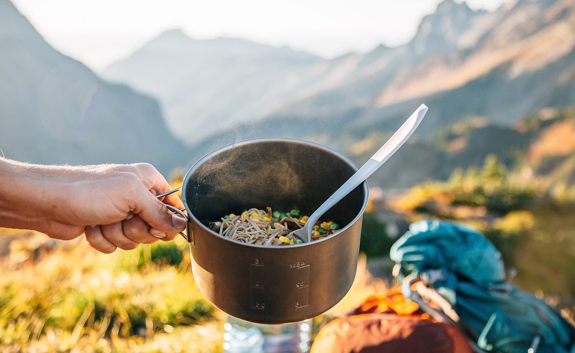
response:
[[[182,208],[150,164],[39,166],[0,159],[0,225],[34,229],[55,239],[86,233],[96,250],[130,250],[172,240],[186,222],[163,204]],[[162,202],[163,201],[163,202]]]

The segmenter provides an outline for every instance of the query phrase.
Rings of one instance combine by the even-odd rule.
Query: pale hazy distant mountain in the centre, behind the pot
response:
[[[249,121],[301,94],[310,66],[325,60],[287,47],[221,37],[194,40],[168,30],[102,75],[158,97],[172,131],[185,141]]]

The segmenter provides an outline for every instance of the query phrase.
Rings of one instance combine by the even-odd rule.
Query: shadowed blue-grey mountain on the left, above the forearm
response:
[[[150,162],[169,172],[186,162],[155,99],[57,52],[8,0],[0,0],[0,148],[33,163]]]

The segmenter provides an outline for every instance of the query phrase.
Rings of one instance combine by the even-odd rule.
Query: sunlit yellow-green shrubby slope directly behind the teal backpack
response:
[[[388,202],[408,221],[438,218],[477,228],[501,251],[506,266],[517,269],[514,282],[575,303],[575,194],[554,190],[493,156],[480,168],[455,170],[446,182],[427,182]]]

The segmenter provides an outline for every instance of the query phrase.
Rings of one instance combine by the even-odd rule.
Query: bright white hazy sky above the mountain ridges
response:
[[[461,2],[461,0],[456,0]],[[50,44],[94,70],[160,32],[240,37],[333,57],[409,41],[440,0],[13,0]],[[469,0],[496,9],[504,0]]]

